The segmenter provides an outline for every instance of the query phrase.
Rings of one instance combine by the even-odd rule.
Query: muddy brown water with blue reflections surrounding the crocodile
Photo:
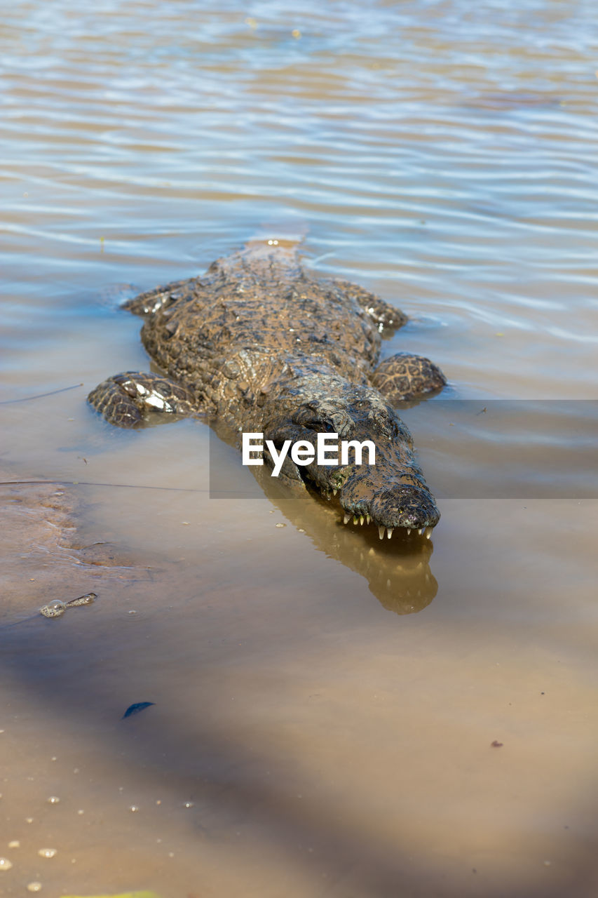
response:
[[[594,4],[2,19],[1,463],[56,482],[0,497],[0,891],[595,894],[591,432],[538,475],[560,401],[598,397]],[[148,365],[122,298],[279,234],[409,313],[384,351],[449,398],[559,401],[509,489],[519,431],[482,463],[471,422],[461,450],[406,412],[451,474],[433,541],[249,475],[210,498],[206,425],[85,407]]]

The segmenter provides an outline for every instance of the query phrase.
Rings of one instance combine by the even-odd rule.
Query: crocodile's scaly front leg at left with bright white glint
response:
[[[191,393],[179,383],[136,371],[102,381],[87,401],[117,427],[136,427],[155,412],[190,415],[199,410]]]

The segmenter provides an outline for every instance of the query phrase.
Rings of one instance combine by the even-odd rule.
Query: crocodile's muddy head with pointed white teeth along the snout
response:
[[[346,382],[347,383],[347,382]],[[315,390],[285,418],[280,415],[267,427],[269,436],[279,447],[285,440],[299,440],[313,446],[316,457],[312,462],[298,465],[286,457],[283,476],[289,480],[303,480],[305,486],[323,496],[338,500],[344,523],[373,524],[380,538],[389,538],[395,528],[426,533],[429,538],[440,514],[435,500],[413,454],[409,430],[382,395],[371,387],[349,385],[330,396],[325,390]],[[319,463],[318,436],[337,434],[339,444],[347,441],[347,458],[336,452],[337,441],[330,436],[328,456],[336,463]],[[375,447],[374,463],[366,445],[361,460],[351,442]],[[321,461],[321,460],[320,460]],[[345,462],[345,463],[343,463]],[[359,463],[361,462],[361,463]]]

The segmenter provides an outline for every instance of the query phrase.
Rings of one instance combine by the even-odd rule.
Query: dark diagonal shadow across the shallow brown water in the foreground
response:
[[[75,752],[77,739],[81,740],[82,754],[86,751],[85,738],[90,739],[94,752],[109,764],[124,759],[131,771],[149,770],[150,788],[157,790],[155,794],[163,795],[168,789],[188,796],[195,804],[188,826],[191,845],[197,841],[198,846],[209,848],[225,841],[232,829],[249,825],[260,840],[287,856],[289,870],[299,863],[325,877],[327,885],[321,882],[308,893],[314,895],[428,898],[434,894],[456,898],[462,894],[506,894],[505,885],[488,881],[479,892],[475,868],[467,871],[470,885],[466,887],[447,881],[442,851],[439,858],[433,843],[419,846],[422,859],[418,868],[403,850],[400,835],[390,838],[388,832],[382,836],[375,830],[370,832],[358,815],[345,813],[339,797],[335,800],[315,794],[298,801],[302,798],[295,794],[301,788],[296,785],[302,762],[299,754],[286,756],[277,751],[276,735],[273,738],[268,734],[267,727],[261,734],[255,726],[248,731],[235,727],[227,734],[222,721],[215,723],[211,709],[225,706],[230,699],[226,678],[219,689],[214,657],[201,652],[198,656],[186,651],[181,654],[180,628],[185,621],[179,621],[178,626],[163,624],[163,619],[148,618],[136,629],[127,640],[127,661],[123,665],[122,636],[115,639],[114,621],[108,615],[95,620],[91,615],[84,620],[74,614],[60,621],[23,621],[22,627],[0,629],[4,674],[18,680],[29,693],[29,714],[37,704],[60,721],[69,738],[75,740]],[[259,651],[256,642],[262,638],[259,631],[251,635],[254,650]],[[302,638],[303,634],[294,635],[289,630],[277,647],[268,647],[268,662],[279,665],[283,676],[289,653],[301,655]],[[154,661],[148,659],[153,649]],[[219,645],[216,654],[216,666],[221,665],[223,670],[238,664],[234,646]],[[172,681],[173,664],[177,678],[171,682],[175,691],[169,694],[167,688],[158,697],[154,690],[161,675],[156,676],[152,668],[161,662],[163,679],[170,677]],[[308,658],[305,664],[309,664]],[[121,719],[132,698],[146,699],[148,695],[156,699],[151,716]],[[351,753],[350,745],[347,753]],[[375,752],[370,763],[375,767]],[[400,750],[396,777],[409,778],[409,770],[402,769]],[[392,786],[396,788],[396,783]],[[315,858],[306,853],[307,846],[315,846]],[[521,898],[585,894],[587,882],[584,867],[578,866],[573,880],[567,880],[567,893],[562,891],[561,881],[522,886],[516,894]],[[180,894],[178,886],[171,894]],[[288,894],[301,892],[289,886]]]

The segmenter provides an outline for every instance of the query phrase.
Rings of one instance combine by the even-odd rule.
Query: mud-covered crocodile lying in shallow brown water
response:
[[[374,464],[297,465],[286,455],[279,480],[338,501],[345,524],[367,522],[380,539],[396,529],[430,537],[440,514],[394,406],[446,379],[425,357],[380,362],[383,332],[405,314],[361,286],[318,276],[276,240],[124,307],[144,317],[141,339],[161,373],[128,371],[96,387],[88,400],[110,423],[207,416],[238,445],[242,433],[259,433],[277,450],[286,440],[315,447],[321,433],[370,440]]]

